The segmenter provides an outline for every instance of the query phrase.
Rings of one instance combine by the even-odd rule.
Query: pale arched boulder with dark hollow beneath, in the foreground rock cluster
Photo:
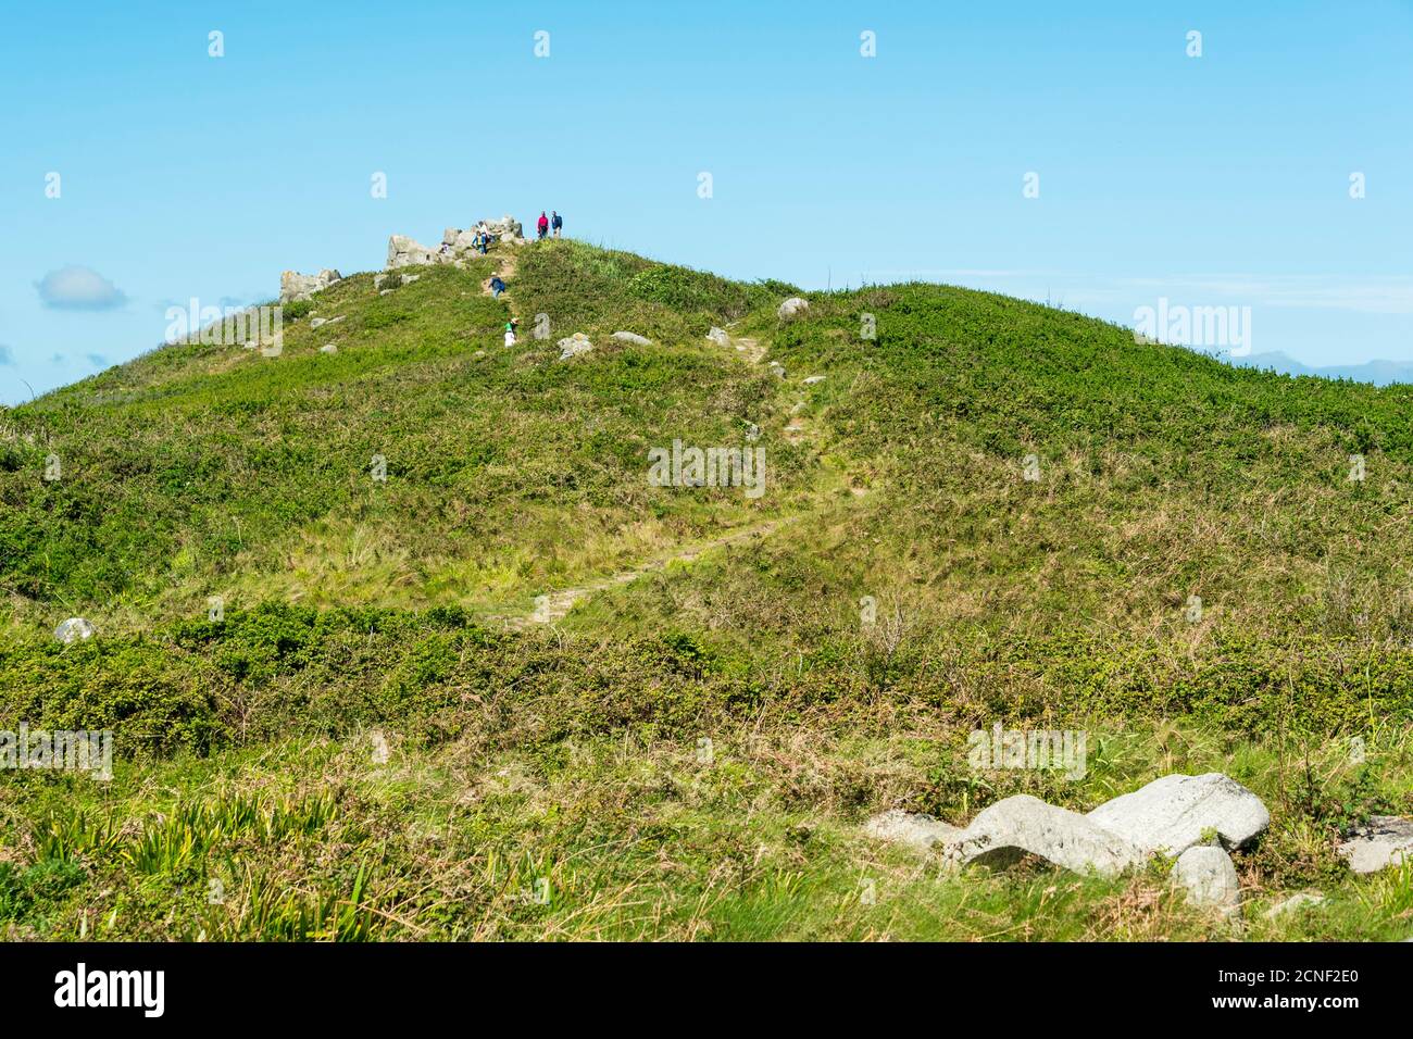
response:
[[[1027,854],[1077,874],[1104,876],[1143,861],[1143,852],[1122,837],[1077,811],[1046,804],[1030,794],[996,802],[942,845],[942,858],[951,865],[1005,868]]]

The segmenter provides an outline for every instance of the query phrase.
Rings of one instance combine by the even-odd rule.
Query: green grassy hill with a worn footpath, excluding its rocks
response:
[[[346,278],[278,358],[167,348],[0,413],[0,727],[119,756],[3,777],[0,926],[1406,936],[1413,869],[1331,841],[1413,811],[1413,390],[942,286],[781,321],[790,286],[569,240],[496,301],[504,259]],[[759,445],[764,493],[650,486],[674,440]],[[97,638],[58,645],[71,615]],[[971,770],[998,721],[1089,731],[1085,777]],[[858,833],[1211,769],[1273,816],[1239,932],[1159,868],[942,881]],[[1318,913],[1260,916],[1307,885]]]

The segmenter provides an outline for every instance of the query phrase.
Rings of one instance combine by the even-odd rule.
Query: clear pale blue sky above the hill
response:
[[[1409,0],[45,3],[0,82],[3,403],[172,303],[550,208],[733,277],[1248,305],[1258,353],[1413,359]]]

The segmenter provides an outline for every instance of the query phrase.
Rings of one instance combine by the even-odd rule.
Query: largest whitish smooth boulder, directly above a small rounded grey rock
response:
[[[1181,855],[1214,831],[1226,848],[1241,848],[1270,826],[1270,813],[1235,779],[1219,772],[1174,773],[1105,802],[1089,821],[1137,845],[1145,854]]]

